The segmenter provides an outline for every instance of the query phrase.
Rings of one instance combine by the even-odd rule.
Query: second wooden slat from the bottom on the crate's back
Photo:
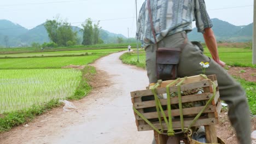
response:
[[[183,116],[186,115],[196,115],[197,113],[199,113],[204,106],[198,106],[198,107],[189,107],[189,108],[185,108],[183,109]],[[214,105],[210,105],[207,107],[207,109],[205,111],[203,111],[203,113],[209,113],[209,112],[215,112],[215,106]],[[164,111],[165,112],[165,116],[168,117],[168,111]],[[179,109],[176,110],[171,110],[172,112],[172,117],[174,116],[179,116]],[[147,113],[142,113],[142,115],[144,117],[146,117],[147,119],[152,119],[152,118],[158,118],[158,112],[147,112]],[[136,119],[138,120],[142,120],[141,117],[136,116]]]

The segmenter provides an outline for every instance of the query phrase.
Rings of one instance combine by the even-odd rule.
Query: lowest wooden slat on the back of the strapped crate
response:
[[[193,121],[191,120],[184,120],[184,127],[189,127],[190,123]],[[198,119],[193,127],[201,126],[201,125],[213,125],[216,124],[217,119],[216,118],[205,118],[205,119]],[[181,128],[181,122],[172,122],[172,126],[174,129]],[[153,124],[157,129],[161,129],[161,125],[159,123]],[[167,129],[167,126],[165,123],[162,123],[162,126],[164,129]],[[145,131],[145,130],[153,130],[153,128],[150,127],[148,124],[139,125],[138,131]]]

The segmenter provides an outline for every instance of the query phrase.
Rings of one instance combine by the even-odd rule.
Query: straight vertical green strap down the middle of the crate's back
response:
[[[174,136],[174,130],[172,127],[172,112],[171,112],[171,96],[170,96],[170,86],[174,85],[174,83],[176,83],[179,80],[176,79],[175,81],[169,83],[166,86],[166,93],[167,93],[167,111],[168,111],[168,118],[169,118],[169,124],[168,124],[168,131],[167,131],[167,135],[168,136]]]

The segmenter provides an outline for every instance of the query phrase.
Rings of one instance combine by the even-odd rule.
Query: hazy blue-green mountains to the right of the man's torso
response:
[[[244,42],[252,40],[253,23],[247,26],[235,26],[226,21],[212,19],[212,24],[217,41]],[[188,38],[191,41],[204,41],[202,34],[197,32],[197,28],[188,34]]]

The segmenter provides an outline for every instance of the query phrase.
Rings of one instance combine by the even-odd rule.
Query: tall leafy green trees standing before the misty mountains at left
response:
[[[61,21],[57,17],[54,20],[46,20],[44,27],[52,42],[44,43],[43,47],[73,46],[79,44],[80,40],[77,37],[77,32],[73,31],[71,23]],[[100,21],[93,24],[92,20],[89,18],[82,23],[82,27],[82,45],[103,43],[103,40],[100,39]]]

